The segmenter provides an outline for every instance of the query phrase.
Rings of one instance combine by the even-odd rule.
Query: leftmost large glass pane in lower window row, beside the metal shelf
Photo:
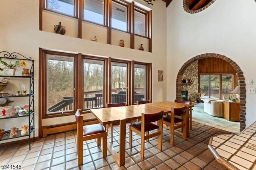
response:
[[[48,113],[74,111],[74,58],[47,55]]]

